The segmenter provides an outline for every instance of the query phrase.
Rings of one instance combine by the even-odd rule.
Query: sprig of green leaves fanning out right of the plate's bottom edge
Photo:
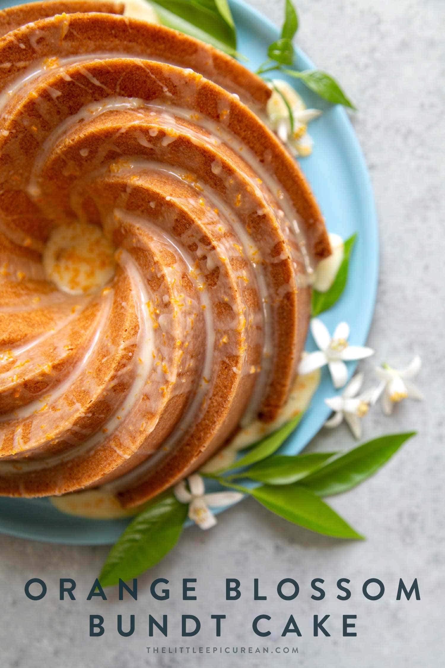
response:
[[[348,452],[270,456],[286,440],[289,424],[262,440],[234,465],[245,466],[250,457],[255,462],[253,466],[228,476],[221,472],[211,477],[221,485],[250,494],[268,510],[294,524],[326,536],[363,538],[321,497],[348,492],[356,487],[383,466],[416,432],[380,436]],[[266,441],[268,446],[264,448]],[[247,488],[234,483],[237,478],[264,484]]]

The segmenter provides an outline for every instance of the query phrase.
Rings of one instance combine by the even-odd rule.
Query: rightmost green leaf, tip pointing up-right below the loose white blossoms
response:
[[[383,466],[402,444],[416,432],[388,434],[326,462],[318,470],[300,480],[300,484],[320,496],[346,492]]]

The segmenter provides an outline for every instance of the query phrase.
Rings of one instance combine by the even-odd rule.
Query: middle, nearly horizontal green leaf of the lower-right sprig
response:
[[[335,452],[314,452],[296,456],[277,455],[254,464],[247,471],[229,476],[229,479],[249,478],[270,485],[288,485],[308,476],[335,454]]]

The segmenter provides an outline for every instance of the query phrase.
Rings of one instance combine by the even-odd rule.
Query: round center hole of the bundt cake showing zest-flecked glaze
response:
[[[71,295],[103,288],[115,273],[115,249],[101,228],[85,222],[55,227],[43,251],[49,281]]]

